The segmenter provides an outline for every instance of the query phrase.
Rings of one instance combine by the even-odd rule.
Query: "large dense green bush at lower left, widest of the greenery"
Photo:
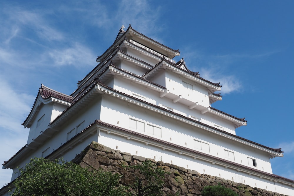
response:
[[[126,187],[118,186],[121,175],[103,170],[88,170],[62,159],[50,161],[33,158],[20,169],[21,175],[13,182],[13,196],[22,195],[128,195]]]

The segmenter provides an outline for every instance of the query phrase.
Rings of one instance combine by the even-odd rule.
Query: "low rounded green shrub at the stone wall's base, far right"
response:
[[[220,184],[215,186],[206,186],[201,192],[202,196],[238,196],[238,193],[226,188]]]

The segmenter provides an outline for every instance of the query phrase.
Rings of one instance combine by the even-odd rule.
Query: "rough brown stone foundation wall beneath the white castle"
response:
[[[122,165],[134,165],[145,161],[146,158],[130,153],[113,150],[99,143],[92,142],[81,154],[77,155],[74,160],[75,163],[80,164],[82,167],[103,168],[111,172],[118,172],[123,175],[120,183],[122,185],[130,185],[134,180],[134,175],[131,170],[127,170]],[[195,170],[178,167],[173,164],[163,163],[162,161],[153,161],[158,167],[170,172],[166,177],[166,187],[163,190],[166,193],[175,194],[180,192],[180,196],[198,196],[201,195],[203,187],[207,185],[217,185],[218,183],[228,187],[240,196],[284,196],[277,192],[260,189],[257,187],[250,187],[242,183],[236,183],[231,180],[225,180],[217,176],[207,174],[200,174]]]

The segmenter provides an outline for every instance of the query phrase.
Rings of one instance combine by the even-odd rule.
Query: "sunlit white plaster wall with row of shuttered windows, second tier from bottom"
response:
[[[235,160],[230,161],[245,166],[250,167],[250,165],[248,165],[247,157],[256,159],[257,167],[252,166],[253,168],[272,173],[269,157],[267,153],[261,150],[241,145],[228,138],[208,133],[206,130],[193,127],[186,123],[155,113],[151,110],[146,110],[131,103],[118,100],[117,98],[104,97],[102,100],[101,114],[103,114],[101,115],[102,121],[126,129],[131,129],[129,126],[130,118],[144,122],[145,132],[143,134],[145,135],[150,135],[146,133],[147,124],[154,125],[161,128],[162,135],[161,137],[157,137],[155,135],[150,136],[187,148],[195,149],[194,139],[208,143],[210,147],[210,152],[208,152],[208,154],[223,159],[226,159],[224,157],[224,149],[229,150],[234,153],[235,157]]]

